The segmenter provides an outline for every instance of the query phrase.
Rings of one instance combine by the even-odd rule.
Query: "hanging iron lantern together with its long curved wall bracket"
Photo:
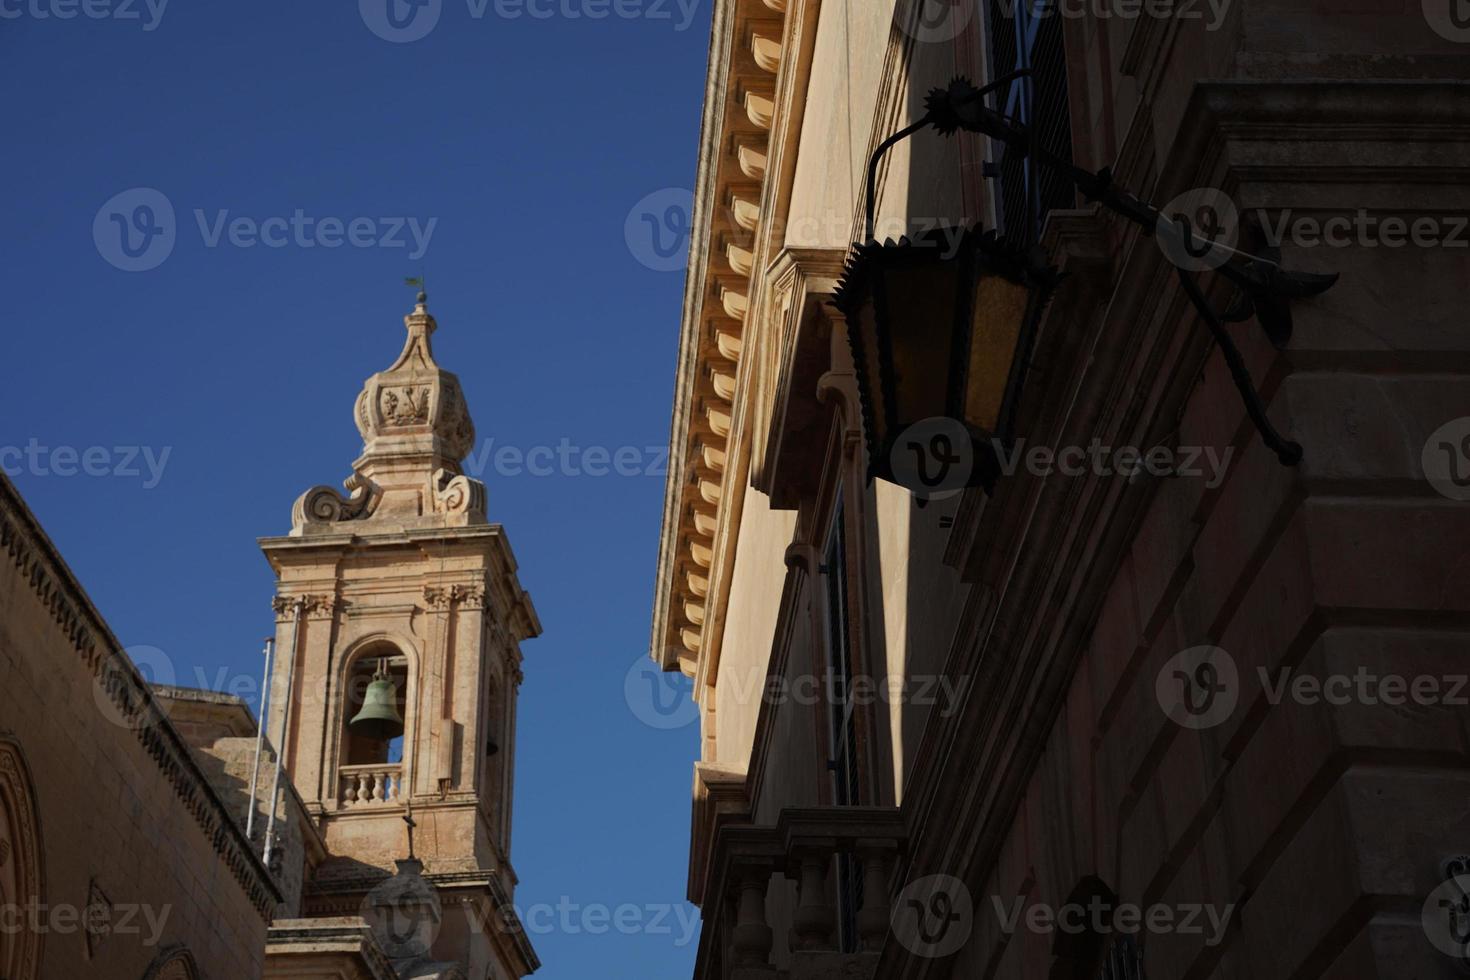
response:
[[[1014,439],[1017,400],[1029,367],[1036,328],[1057,284],[1039,247],[1005,242],[980,228],[936,229],[914,239],[879,244],[873,238],[878,166],[898,141],[920,129],[941,135],[976,132],[1038,166],[1060,172],[1091,201],[1139,225],[1160,229],[1191,250],[1200,245],[1188,225],[1175,228],[1160,210],[1126,192],[1104,167],[1076,167],[1039,145],[1033,131],[986,104],[986,96],[1029,71],[1013,72],[983,88],[956,78],[925,100],[925,113],[886,138],[867,166],[867,237],[848,256],[833,295],[847,317],[857,369],[869,475],[928,497],[961,486],[994,489],[1000,453]],[[1004,100],[1003,100],[1004,101]],[[1279,253],[1261,254],[1205,242],[1229,256],[1217,272],[1238,289],[1220,313],[1185,267],[1185,294],[1220,345],[1247,413],[1263,442],[1285,466],[1301,447],[1283,438],[1245,369],[1226,322],[1255,319],[1270,341],[1291,338],[1291,301],[1329,289],[1336,275],[1291,272]]]

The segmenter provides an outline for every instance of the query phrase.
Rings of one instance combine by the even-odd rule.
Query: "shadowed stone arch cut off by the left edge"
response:
[[[21,743],[0,735],[0,977],[38,980],[40,930],[26,927],[26,908],[46,902],[41,868],[41,821],[31,770]],[[13,929],[19,924],[21,929]]]

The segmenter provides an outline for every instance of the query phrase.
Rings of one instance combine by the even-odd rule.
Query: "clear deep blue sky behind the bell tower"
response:
[[[681,912],[648,907],[682,902],[697,732],[625,691],[647,689],[709,0],[385,1],[0,0],[0,464],[140,660],[256,685],[256,538],[348,473],[353,400],[426,272],[545,624],[513,857],[519,905],[570,911],[542,914],[538,976],[688,976]],[[516,463],[535,447],[551,475]],[[579,924],[619,905],[645,909],[632,934]]]

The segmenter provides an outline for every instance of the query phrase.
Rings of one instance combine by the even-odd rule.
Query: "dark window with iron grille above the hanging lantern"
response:
[[[1008,87],[1001,110],[1025,123],[1038,145],[1070,160],[1067,63],[1055,0],[979,1],[989,4],[991,76],[1030,69],[1030,76]],[[1011,150],[1001,154],[997,179],[997,222],[1014,241],[1035,241],[1047,212],[1076,203],[1076,192],[1064,176],[1038,167]]]

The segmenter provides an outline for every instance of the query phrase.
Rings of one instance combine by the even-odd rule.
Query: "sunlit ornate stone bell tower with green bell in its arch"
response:
[[[266,730],[325,843],[301,914],[363,914],[422,864],[428,958],[509,980],[537,967],[510,905],[510,827],[520,642],[541,624],[485,485],[462,472],[475,426],[434,360],[423,292],[404,325],[357,397],[347,492],[313,486],[291,532],[260,541],[276,573]]]

